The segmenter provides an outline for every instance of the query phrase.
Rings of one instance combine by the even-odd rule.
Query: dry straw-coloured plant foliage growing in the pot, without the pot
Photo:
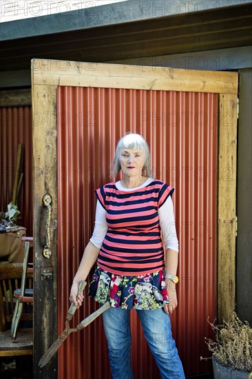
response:
[[[208,320],[209,322],[209,320]],[[223,325],[209,322],[216,341],[205,338],[213,357],[222,365],[243,371],[252,371],[252,328],[233,312],[231,320]]]

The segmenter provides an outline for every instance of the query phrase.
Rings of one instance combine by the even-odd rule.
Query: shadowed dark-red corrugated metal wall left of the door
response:
[[[19,194],[20,225],[27,228],[27,235],[32,236],[32,109],[31,107],[0,108],[0,177],[1,196],[0,211],[6,212],[12,200],[15,170],[17,165],[17,147],[24,145],[24,176]]]

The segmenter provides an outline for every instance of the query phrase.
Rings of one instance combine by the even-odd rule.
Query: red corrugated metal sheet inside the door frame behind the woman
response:
[[[211,371],[204,336],[216,316],[216,177],[218,94],[58,88],[59,331],[72,278],[94,226],[94,189],[111,181],[117,141],[145,136],[154,176],[174,186],[180,240],[178,308],[172,328],[187,375]],[[96,309],[86,296],[78,320]],[[140,322],[132,311],[135,378],[158,378]],[[60,379],[110,378],[102,318],[59,350]]]

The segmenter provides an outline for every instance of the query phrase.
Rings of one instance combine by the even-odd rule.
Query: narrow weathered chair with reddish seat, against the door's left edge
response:
[[[28,282],[28,278],[32,278],[33,267],[28,267],[29,249],[33,244],[33,237],[23,237],[22,242],[25,243],[25,252],[23,254],[23,274],[21,280],[21,287],[14,290],[14,298],[17,298],[17,302],[12,317],[12,326],[10,329],[12,340],[17,338],[17,328],[23,314],[23,305],[25,303],[33,303],[33,289],[32,282]]]

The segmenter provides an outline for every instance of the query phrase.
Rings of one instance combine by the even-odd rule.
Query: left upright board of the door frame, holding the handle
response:
[[[32,82],[32,129],[34,158],[34,378],[57,378],[57,355],[39,369],[39,360],[58,335],[57,296],[57,125],[56,86],[35,85]],[[43,196],[52,197],[49,225],[52,256],[43,256],[48,209]],[[43,276],[51,272],[52,276]]]

